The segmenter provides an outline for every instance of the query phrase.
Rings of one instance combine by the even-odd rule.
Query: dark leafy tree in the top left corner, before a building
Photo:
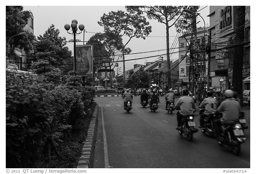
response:
[[[8,43],[8,40],[12,36],[25,32],[24,27],[26,24],[28,24],[28,19],[31,16],[31,12],[23,11],[22,6],[5,6],[5,10],[5,39],[6,43]],[[13,37],[10,41],[10,47],[19,47],[28,53],[30,50],[32,50],[32,43],[34,42],[34,39],[35,36],[30,32],[27,32],[26,35]]]

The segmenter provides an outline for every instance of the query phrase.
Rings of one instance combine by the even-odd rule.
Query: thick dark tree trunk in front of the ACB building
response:
[[[236,26],[234,26],[235,42],[244,42],[244,23],[245,23],[245,6],[235,6]],[[244,58],[244,45],[241,44],[234,48],[233,58],[233,72],[232,72],[232,87],[238,93],[241,101],[243,97],[243,58]]]

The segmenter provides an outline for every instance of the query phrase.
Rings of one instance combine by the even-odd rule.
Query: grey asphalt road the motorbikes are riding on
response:
[[[235,156],[200,131],[192,142],[180,136],[175,129],[177,111],[167,113],[164,97],[156,112],[142,108],[139,96],[134,97],[131,113],[123,109],[121,97],[95,101],[100,115],[94,168],[250,168],[250,128],[245,131],[248,142]],[[198,127],[198,111],[195,121]]]

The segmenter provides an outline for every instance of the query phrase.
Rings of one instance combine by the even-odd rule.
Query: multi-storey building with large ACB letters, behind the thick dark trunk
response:
[[[234,44],[237,6],[210,6],[210,28],[211,56],[210,72],[211,86],[215,88],[232,89],[232,71],[234,49],[225,49],[230,44]],[[243,57],[243,89],[250,88],[250,6],[245,6],[244,41],[236,43],[246,43],[244,45]],[[235,62],[234,62],[235,63]],[[224,81],[220,81],[223,79]]]

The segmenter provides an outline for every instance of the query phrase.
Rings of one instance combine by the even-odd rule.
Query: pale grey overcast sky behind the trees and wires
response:
[[[81,6],[53,6],[53,5],[40,5],[40,6],[23,6],[24,10],[31,11],[34,16],[34,35],[37,37],[39,35],[43,35],[45,31],[53,24],[56,29],[60,30],[60,36],[65,37],[66,40],[73,39],[73,35],[67,33],[64,29],[65,24],[71,24],[73,19],[76,19],[79,24],[84,24],[84,29],[87,32],[82,32],[79,35],[76,35],[76,39],[80,39],[81,41],[88,41],[95,33],[104,32],[104,28],[98,24],[100,21],[100,17],[105,13],[108,14],[111,11],[122,10],[126,12],[125,6],[115,6],[115,5],[104,5],[104,6],[88,6],[86,4]],[[204,18],[205,25],[209,26],[209,6],[200,6],[200,15]],[[199,9],[199,10],[200,10]],[[147,17],[146,17],[147,18]],[[146,39],[142,38],[133,38],[129,43],[128,47],[131,48],[131,53],[139,53],[139,52],[147,52],[152,50],[162,50],[156,51],[152,53],[144,53],[144,54],[131,54],[126,55],[125,59],[135,59],[135,58],[143,58],[139,60],[127,61],[125,62],[125,69],[129,70],[133,68],[134,64],[145,64],[146,62],[156,61],[160,54],[165,54],[166,51],[166,31],[165,25],[163,23],[158,23],[156,20],[150,20],[147,18],[147,21],[152,26],[152,32],[146,37]],[[200,21],[200,22],[199,22]],[[203,20],[199,17],[197,26],[204,26]],[[177,47],[176,45],[176,31],[175,27],[171,27],[169,30],[170,35],[170,47]],[[128,39],[128,37],[123,37],[124,43]],[[77,45],[82,45],[83,43],[77,43]],[[67,43],[69,50],[73,52],[73,43]],[[177,50],[176,50],[177,51]],[[156,56],[153,58],[144,58],[149,56]],[[118,56],[115,58],[117,60]],[[166,56],[164,56],[166,59]],[[178,54],[172,54],[170,56],[171,61],[175,61],[178,59]],[[120,60],[120,59],[119,59]],[[122,62],[119,63],[119,66],[122,67]]]

